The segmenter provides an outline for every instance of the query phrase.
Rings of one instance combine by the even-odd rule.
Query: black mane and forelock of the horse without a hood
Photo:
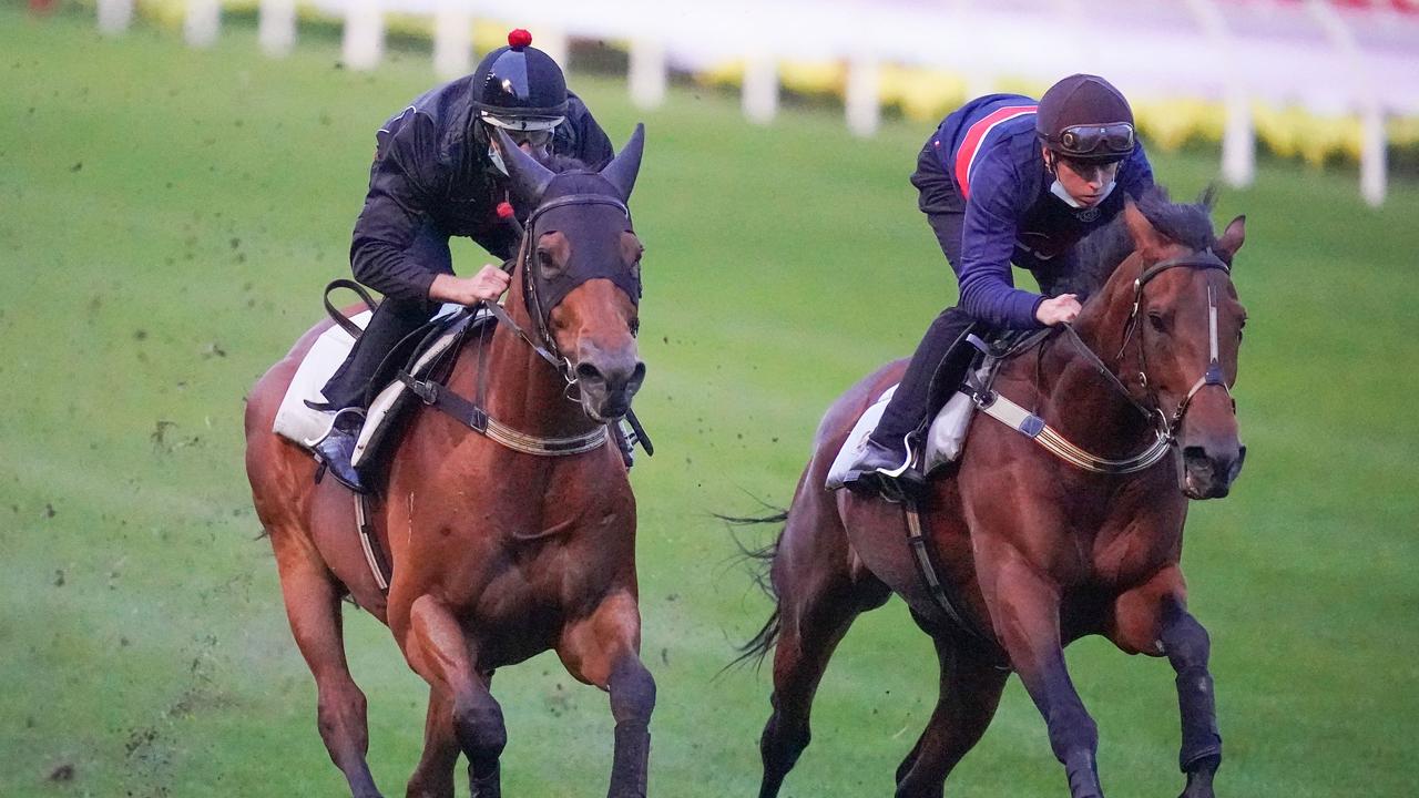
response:
[[[1168,189],[1152,186],[1142,196],[1134,197],[1134,202],[1158,233],[1185,247],[1203,250],[1218,243],[1216,234],[1212,231],[1210,214],[1215,197],[1215,189],[1208,187],[1193,204],[1174,203],[1168,199]],[[1132,254],[1134,248],[1128,224],[1124,222],[1124,214],[1120,213],[1112,222],[1094,230],[1078,243],[1074,274],[1063,283],[1059,291],[1093,294],[1108,281],[1118,264]]]

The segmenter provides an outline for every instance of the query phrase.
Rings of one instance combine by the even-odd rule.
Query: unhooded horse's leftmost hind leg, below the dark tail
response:
[[[802,490],[799,500],[812,507],[790,513],[773,562],[779,639],[769,696],[773,713],[759,740],[759,798],[779,794],[783,778],[807,748],[813,694],[837,643],[860,612],[880,606],[890,595],[870,574],[854,578],[853,554],[832,500],[805,498]]]

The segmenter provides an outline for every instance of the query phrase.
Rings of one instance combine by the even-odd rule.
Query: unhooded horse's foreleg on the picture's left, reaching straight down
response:
[[[1050,747],[1064,765],[1073,798],[1100,798],[1098,727],[1064,666],[1059,586],[1013,548],[985,541],[976,552],[981,588],[1010,665],[1044,716]]]

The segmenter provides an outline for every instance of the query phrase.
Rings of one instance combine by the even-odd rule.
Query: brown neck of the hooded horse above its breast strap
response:
[[[536,341],[536,322],[528,314],[518,273],[512,275],[505,308],[508,317]],[[457,368],[473,372],[471,385],[482,386],[481,398],[488,415],[521,433],[569,437],[596,426],[582,412],[580,403],[568,398],[561,369],[542,359],[507,325],[499,324],[494,329],[482,352],[465,348]]]

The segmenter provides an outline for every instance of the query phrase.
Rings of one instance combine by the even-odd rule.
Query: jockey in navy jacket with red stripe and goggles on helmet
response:
[[[946,116],[917,158],[920,192],[941,248],[961,284],[959,305],[932,322],[847,486],[912,490],[921,429],[961,383],[971,331],[1030,329],[1069,322],[1073,294],[1053,297],[1074,271],[1074,244],[1114,219],[1124,197],[1152,185],[1128,101],[1108,81],[1070,75],[1039,102],[992,94]],[[1042,294],[1015,287],[1010,264],[1029,270]]]

